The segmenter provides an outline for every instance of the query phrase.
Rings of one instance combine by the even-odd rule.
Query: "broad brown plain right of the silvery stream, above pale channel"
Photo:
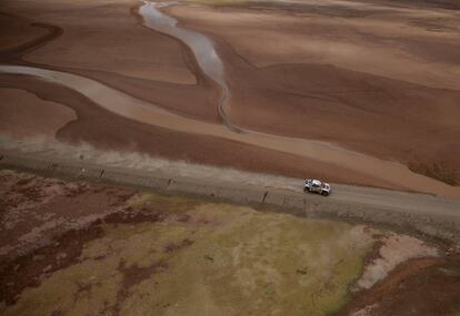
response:
[[[449,74],[458,71],[460,75],[458,54],[450,53],[460,51],[451,40],[460,38],[460,30],[433,34],[418,27],[407,33],[398,31],[391,45],[388,39],[386,42],[387,28],[407,23],[403,19],[383,13],[376,19],[337,20],[322,13],[301,19],[282,11],[248,11],[251,8],[236,6],[240,9],[168,9],[181,24],[212,35],[218,43],[232,91],[229,114],[236,124],[343,144],[458,184],[460,86],[450,84],[456,77]],[[424,23],[423,10],[416,13]],[[328,59],[309,53],[309,45],[314,47],[319,38],[331,41],[323,50]],[[342,42],[350,43],[362,62],[373,55],[376,62],[344,62]],[[362,54],[360,49],[371,51]],[[401,52],[412,77],[399,73],[400,64],[391,64]],[[421,52],[432,72],[446,73],[437,84],[431,84],[428,72],[414,75],[421,67]],[[383,61],[377,59],[380,53]],[[428,63],[436,58],[442,64]],[[381,71],[379,67],[386,63]]]

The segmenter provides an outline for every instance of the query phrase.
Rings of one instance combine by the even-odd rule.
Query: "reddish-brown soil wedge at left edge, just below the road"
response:
[[[132,192],[2,171],[0,195],[0,261],[4,261],[118,211]]]

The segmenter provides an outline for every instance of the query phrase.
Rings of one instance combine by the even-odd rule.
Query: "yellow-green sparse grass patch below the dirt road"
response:
[[[362,226],[250,207],[149,194],[128,204],[189,217],[103,224],[79,264],[0,313],[327,315],[347,302],[373,244]]]

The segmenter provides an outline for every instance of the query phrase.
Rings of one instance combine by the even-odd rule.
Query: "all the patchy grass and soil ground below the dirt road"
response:
[[[458,315],[460,258],[326,220],[0,171],[1,315]]]

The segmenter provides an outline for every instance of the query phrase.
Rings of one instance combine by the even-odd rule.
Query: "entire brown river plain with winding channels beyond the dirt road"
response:
[[[0,131],[458,196],[457,7],[3,1]]]

